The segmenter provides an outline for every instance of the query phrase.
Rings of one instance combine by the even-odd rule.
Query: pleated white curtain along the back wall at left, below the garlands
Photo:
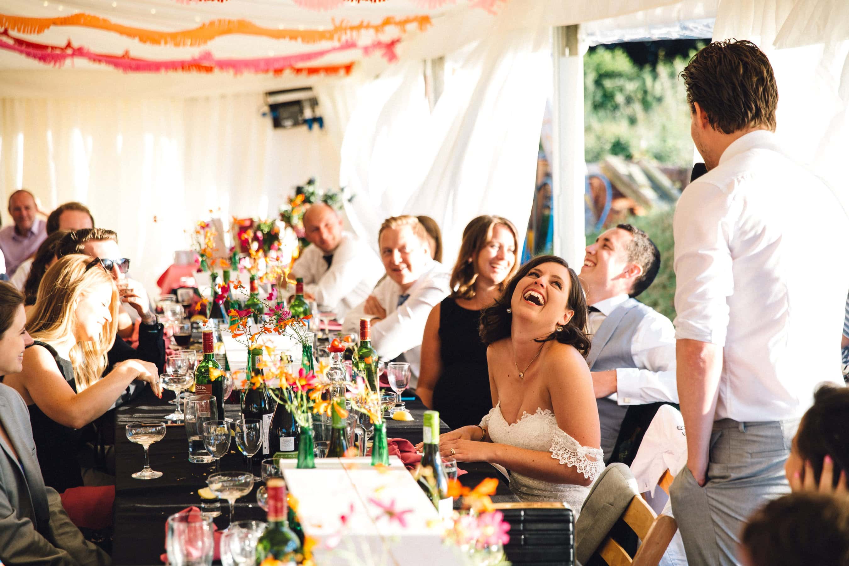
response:
[[[308,177],[335,182],[327,132],[274,130],[261,111],[256,94],[0,98],[0,198],[25,187],[48,211],[86,204],[99,227],[118,233],[132,276],[153,294],[195,221],[273,216]]]

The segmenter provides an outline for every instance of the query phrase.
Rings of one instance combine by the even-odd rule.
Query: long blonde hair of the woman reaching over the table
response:
[[[88,255],[65,255],[53,264],[42,278],[36,304],[26,318],[26,330],[33,339],[44,342],[66,339],[76,326],[76,308],[82,295],[102,283],[112,287],[110,314],[112,320],[104,325],[98,339],[77,342],[70,349],[70,363],[74,367],[76,392],[95,383],[106,368],[106,352],[115,343],[118,331],[118,288],[110,273],[102,265],[94,264]]]

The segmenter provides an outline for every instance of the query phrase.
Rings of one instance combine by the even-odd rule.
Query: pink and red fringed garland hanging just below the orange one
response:
[[[44,64],[52,64],[61,67],[69,59],[88,59],[93,63],[106,64],[124,72],[161,72],[161,71],[194,71],[211,73],[214,70],[229,70],[234,75],[245,72],[268,73],[284,72],[291,70],[295,65],[306,63],[315,59],[321,59],[329,53],[339,53],[351,49],[362,49],[368,56],[375,50],[383,54],[390,63],[397,60],[395,48],[400,39],[391,42],[374,42],[366,46],[357,46],[356,42],[343,42],[335,48],[313,51],[310,53],[296,53],[295,55],[284,55],[281,57],[259,57],[253,59],[216,59],[212,53],[205,51],[191,59],[138,59],[132,57],[129,52],[123,55],[108,55],[104,53],[93,53],[88,48],[74,47],[70,42],[63,48],[42,43],[27,42],[19,37],[10,36],[8,31],[0,32],[0,37],[5,37],[11,42],[0,39],[0,49],[20,53],[36,59]]]

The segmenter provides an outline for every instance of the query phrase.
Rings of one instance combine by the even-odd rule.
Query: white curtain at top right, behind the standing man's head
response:
[[[846,0],[723,0],[714,39],[755,42],[779,87],[776,134],[849,202],[849,3]],[[800,188],[801,191],[804,188]]]

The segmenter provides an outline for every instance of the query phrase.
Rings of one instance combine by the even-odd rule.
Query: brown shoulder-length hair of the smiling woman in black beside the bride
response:
[[[513,222],[502,216],[478,216],[474,218],[463,231],[463,243],[460,244],[457,263],[454,264],[454,269],[451,272],[453,298],[466,300],[475,298],[475,281],[478,276],[477,256],[492,238],[492,231],[498,224],[507,227],[513,234],[514,254],[519,254],[519,236]],[[504,286],[510,277],[513,277],[517,269],[519,269],[518,259],[513,262],[507,277],[504,277],[504,280],[498,285],[499,290],[504,290]]]

